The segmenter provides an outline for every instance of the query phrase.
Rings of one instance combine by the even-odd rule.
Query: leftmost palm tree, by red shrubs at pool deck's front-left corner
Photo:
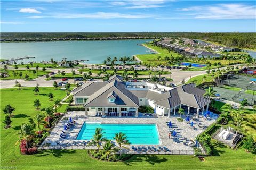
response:
[[[29,125],[28,123],[22,123],[20,126],[20,131],[19,131],[19,141],[25,140],[26,141],[26,150],[28,149],[28,141],[33,139],[33,127]]]

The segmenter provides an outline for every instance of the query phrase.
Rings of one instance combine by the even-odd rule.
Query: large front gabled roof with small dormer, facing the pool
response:
[[[116,94],[116,99],[114,103],[110,103],[107,98],[109,94]],[[84,104],[86,107],[138,107],[139,99],[137,96],[132,94],[129,90],[125,88],[123,83],[114,80],[106,84],[106,86],[102,87],[98,91],[94,92],[86,103]]]

